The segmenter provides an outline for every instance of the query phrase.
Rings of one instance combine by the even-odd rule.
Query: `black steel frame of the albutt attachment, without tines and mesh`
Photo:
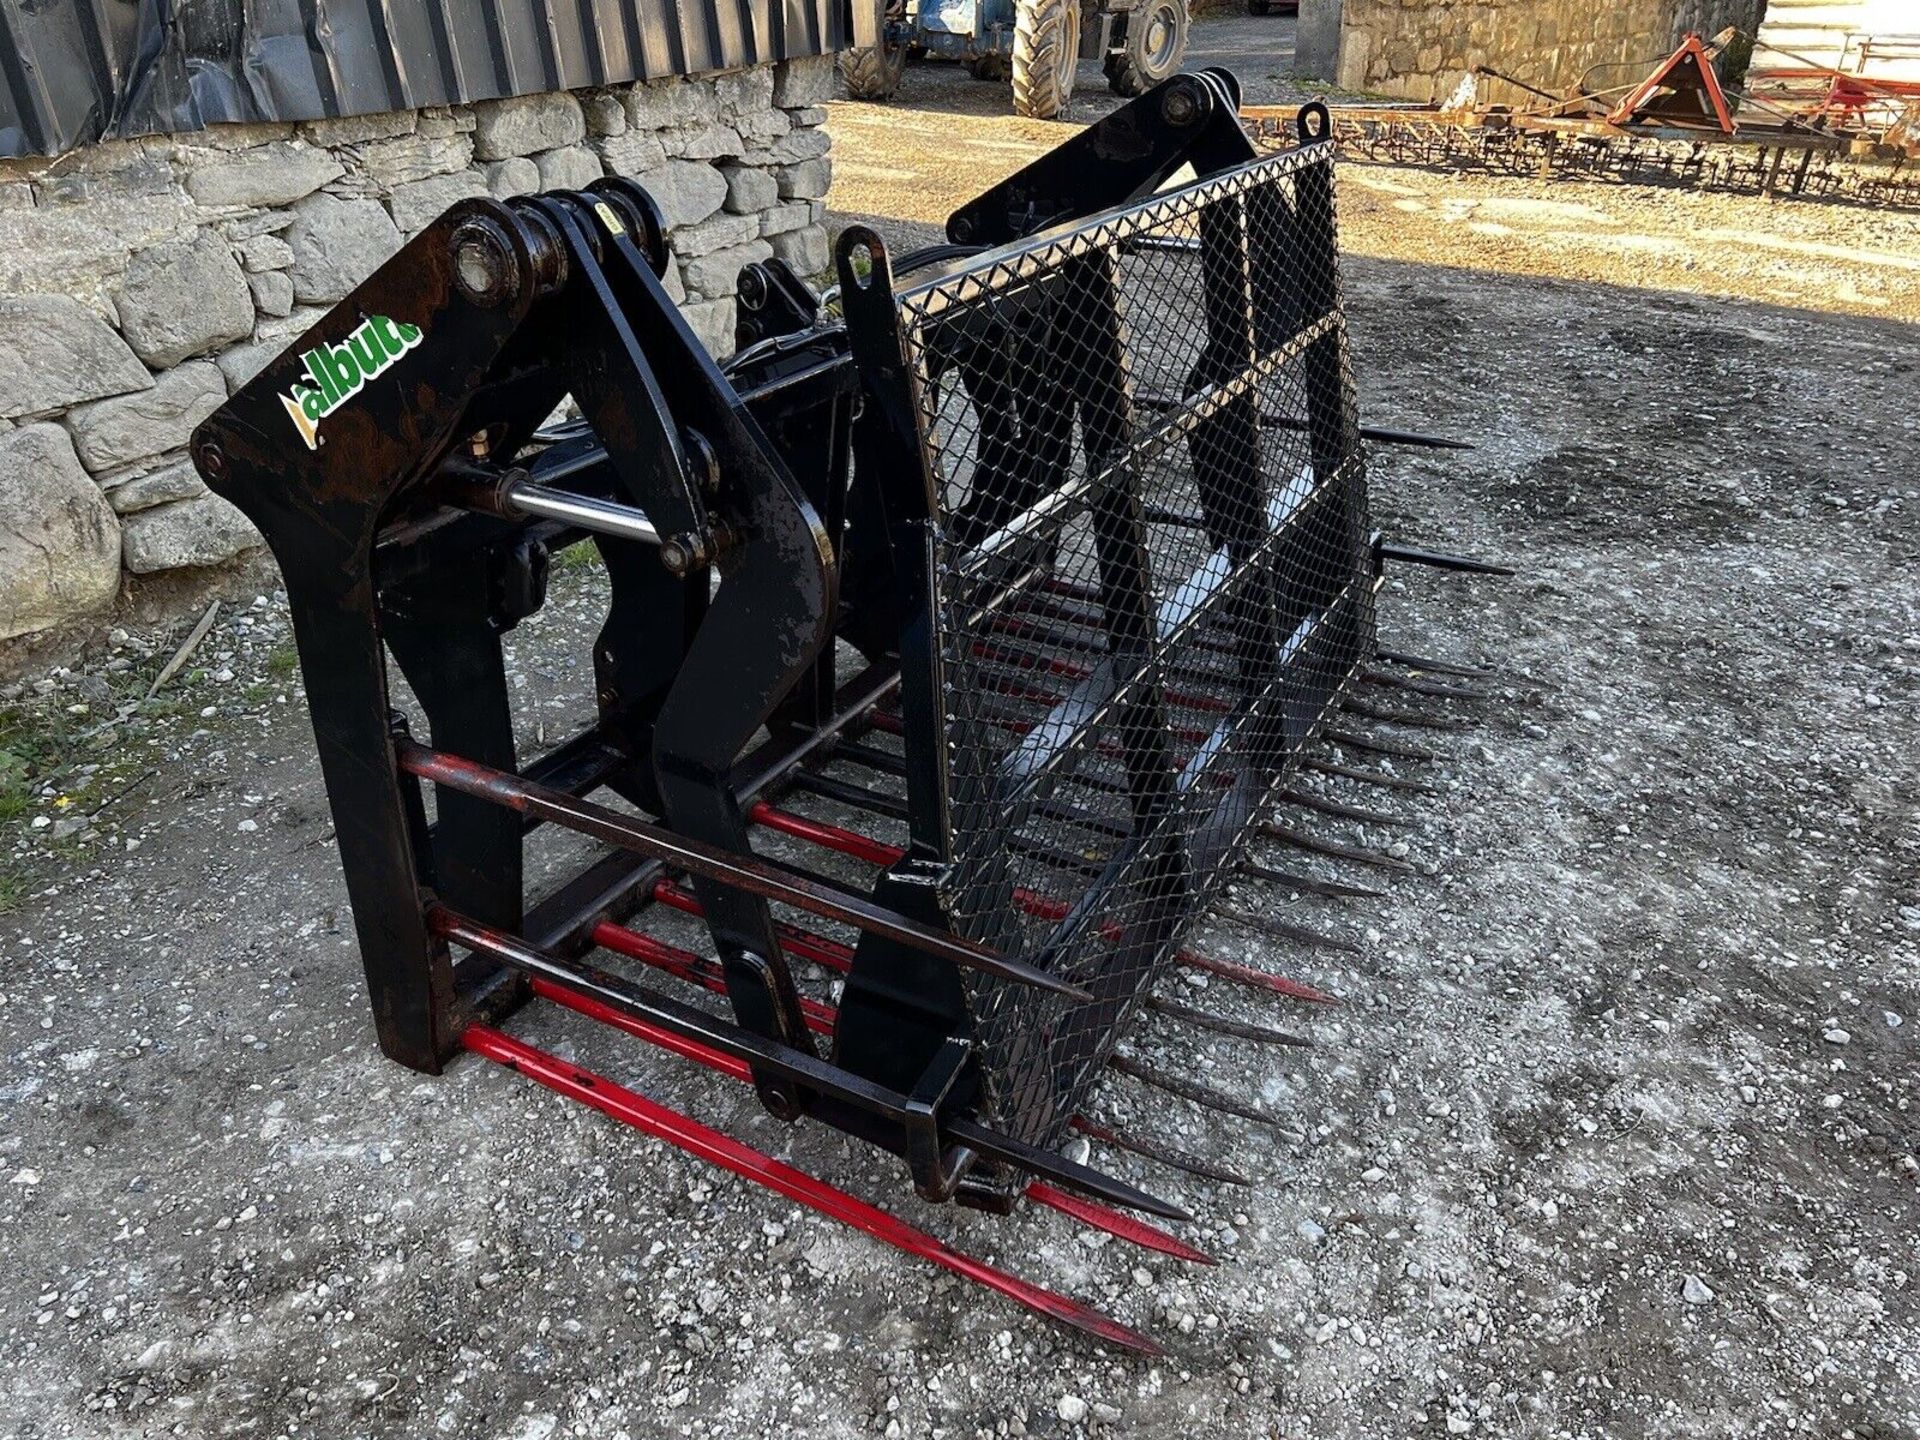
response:
[[[1125,995],[1102,991],[1098,975],[1056,964],[1058,954],[1025,954],[1004,933],[954,924],[954,885],[979,879],[958,874],[950,803],[979,778],[947,760],[964,724],[941,670],[952,624],[941,547],[954,536],[927,484],[922,361],[902,317],[1021,246],[1041,253],[1035,246],[1052,242],[1027,236],[1046,227],[1117,215],[1123,228],[1127,207],[1152,204],[1140,198],[1183,163],[1202,184],[1236,186],[1244,204],[1260,204],[1261,165],[1290,165],[1311,280],[1336,294],[1325,111],[1304,113],[1306,144],[1288,161],[1256,161],[1236,100],[1223,73],[1164,83],[958,211],[939,252],[891,263],[876,234],[852,232],[839,252],[843,321],[820,319],[778,265],[751,267],[741,294],[753,344],[726,369],[660,284],[664,228],[639,186],[463,202],[196,432],[202,474],[253,518],[286,578],[386,1054],[438,1073],[468,1025],[511,1012],[540,977],[747,1062],[770,1112],[826,1119],[904,1156],[927,1198],[1004,1208],[1010,1175],[1025,1171],[1183,1213],[1050,1154],[1068,1112],[1048,1106],[1023,1119],[1004,1077],[987,1073],[1004,1066],[975,1027],[983,983],[1102,1006],[1117,1033],[1140,977]],[[1060,284],[1102,284],[1094,248],[1054,252]],[[1252,346],[1250,328],[1273,321],[1261,257],[1242,246],[1219,259],[1240,276],[1240,309],[1208,323],[1238,326],[1235,344]],[[925,267],[941,269],[897,290],[897,275]],[[286,407],[315,378],[305,357],[349,344],[369,317],[403,321],[422,340],[332,409],[303,447]],[[1306,342],[1309,357],[1338,344],[1338,324]],[[1344,355],[1329,351],[1323,369],[1332,390],[1308,415],[1315,467],[1357,486],[1352,401],[1338,388]],[[1068,382],[1081,401],[1087,386],[1116,382],[1112,367],[1104,378],[1096,371]],[[566,396],[586,424],[543,430]],[[1233,424],[1240,440],[1258,440],[1231,401],[1179,422]],[[1091,447],[1123,444],[1123,434],[1089,436]],[[1119,549],[1102,601],[1121,618],[1108,636],[1150,672],[1152,618],[1125,578],[1137,516],[1117,490],[1112,507],[1104,532]],[[612,595],[593,647],[599,716],[522,762],[501,636],[540,609],[551,553],[584,540],[599,549]],[[1363,538],[1350,540],[1356,574],[1371,576]],[[1217,541],[1252,553],[1271,538]],[[1020,584],[1008,572],[987,591]],[[1279,603],[1260,601],[1273,614]],[[843,684],[835,637],[868,659]],[[388,659],[424,712],[428,743],[396,710]],[[1250,676],[1271,668],[1271,657],[1242,660]],[[1139,685],[1129,693],[1152,708]],[[799,785],[803,766],[856,741],[895,697],[912,839],[872,897],[755,856],[749,808]],[[1325,695],[1313,716],[1323,708]],[[1292,701],[1261,710],[1260,724],[1258,783],[1233,801],[1233,824],[1208,829],[1221,852],[1304,733]],[[1169,874],[1188,866],[1156,820],[1171,806],[1167,758],[1129,756],[1129,774],[1139,845]],[[432,824],[422,781],[434,785]],[[601,789],[626,808],[588,799]],[[607,849],[526,904],[522,843],[540,824]],[[584,958],[599,922],[645,906],[674,874],[705,912],[732,1021]],[[770,900],[860,931],[826,1058]],[[1175,885],[1160,912],[1125,924],[1152,925],[1164,950],[1198,902],[1196,889]],[[1079,906],[1071,927],[1094,908]]]

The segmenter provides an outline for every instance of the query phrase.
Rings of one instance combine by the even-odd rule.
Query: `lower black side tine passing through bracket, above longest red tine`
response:
[[[520,935],[482,925],[476,920],[468,920],[467,916],[447,910],[444,904],[432,906],[426,922],[434,933],[453,945],[465,945],[470,950],[490,954],[495,960],[513,966],[528,979],[547,979],[564,991],[582,995],[609,1006],[611,1010],[626,1014],[649,1031],[659,1029],[672,1033],[674,1044],[668,1044],[668,1048],[676,1048],[682,1054],[685,1054],[685,1046],[720,1050],[735,1060],[776,1069],[803,1087],[837,1094],[849,1104],[874,1104],[883,1110],[891,1110],[902,1102],[900,1096],[893,1096],[885,1091],[885,1087],[860,1081],[858,1077],[849,1075],[849,1071],[843,1071],[831,1062],[820,1060],[806,1050],[795,1050],[780,1041],[755,1035],[753,1031],[741,1029],[739,1025],[720,1020],[718,1016],[710,1016],[697,1006],[680,1004],[668,995],[651,991],[645,985],[636,985],[624,975],[601,970],[588,960],[568,960],[553,954],[551,950],[543,950]],[[632,1033],[639,1031],[636,1029]],[[666,1041],[657,1043],[666,1044]],[[1142,1210],[1148,1215],[1164,1215],[1165,1219],[1192,1219],[1192,1215],[1181,1206],[1160,1200],[1139,1187],[1127,1185],[1112,1175],[1102,1175],[1100,1171],[1068,1160],[1066,1156],[1041,1150],[1037,1144],[1029,1144],[1027,1140],[1002,1135],[991,1125],[983,1125],[970,1116],[947,1117],[941,1123],[941,1131],[954,1144],[972,1146],[989,1160],[998,1160],[1004,1165],[1023,1169],[1039,1179],[1054,1181],[1056,1185],[1079,1190],[1094,1200],[1125,1206],[1127,1210]]]

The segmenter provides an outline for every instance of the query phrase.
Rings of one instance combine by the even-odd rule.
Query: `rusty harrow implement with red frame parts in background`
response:
[[[1882,36],[1855,54],[1920,58],[1920,40]],[[1490,83],[1530,100],[1484,104]],[[1480,67],[1434,104],[1331,111],[1352,159],[1920,205],[1920,75],[1843,71],[1734,29],[1690,35],[1659,61],[1596,67],[1567,96]],[[1244,113],[1256,132],[1284,134],[1292,111]]]

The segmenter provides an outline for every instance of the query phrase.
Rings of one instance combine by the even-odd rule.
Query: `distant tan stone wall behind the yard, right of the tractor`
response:
[[[1766,0],[1302,0],[1296,67],[1342,90],[1446,100],[1461,79],[1494,67],[1567,94],[1596,65],[1624,65],[1596,86],[1649,71],[1690,31],[1759,27]],[[1480,98],[1528,104],[1536,96],[1494,79]]]

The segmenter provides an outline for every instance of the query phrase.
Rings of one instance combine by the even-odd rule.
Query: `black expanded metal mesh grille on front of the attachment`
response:
[[[1056,1139],[1373,636],[1331,148],[899,296],[987,1104]]]

